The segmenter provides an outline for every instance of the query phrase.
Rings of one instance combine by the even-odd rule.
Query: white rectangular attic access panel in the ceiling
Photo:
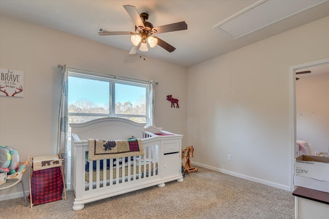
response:
[[[213,26],[234,40],[328,0],[261,0]]]

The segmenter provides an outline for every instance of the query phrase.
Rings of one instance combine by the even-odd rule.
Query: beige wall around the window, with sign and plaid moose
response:
[[[185,67],[148,57],[143,60],[138,55],[130,56],[128,51],[3,16],[0,17],[0,57],[1,68],[24,71],[24,98],[0,96],[0,145],[15,148],[21,160],[56,152],[61,89],[58,64],[158,82],[155,125],[187,134]],[[166,100],[169,94],[179,99],[179,109],[170,107]],[[24,181],[27,189],[27,175]],[[18,191],[22,189],[2,191],[0,200]]]

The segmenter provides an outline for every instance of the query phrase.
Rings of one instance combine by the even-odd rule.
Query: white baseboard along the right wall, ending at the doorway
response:
[[[247,175],[244,175],[244,174],[241,174],[241,173],[235,173],[235,172],[232,172],[232,171],[212,167],[212,166],[209,166],[209,165],[204,165],[204,164],[198,163],[198,162],[191,161],[191,163],[195,166],[198,166],[198,167],[207,168],[209,170],[217,171],[217,172],[220,172],[220,173],[225,173],[225,174],[228,174],[228,175],[231,175],[231,176],[236,176],[236,177],[239,177],[239,178],[247,179],[249,181],[259,182],[259,183],[265,184],[267,186],[271,186],[271,187],[275,187],[275,188],[278,188],[278,189],[283,189],[283,190],[286,190],[286,191],[290,191],[290,187],[287,186],[287,185],[277,184],[276,182],[271,182],[271,181],[267,181],[267,180],[264,180],[264,179],[255,178],[255,177],[252,177],[252,176],[247,176]]]

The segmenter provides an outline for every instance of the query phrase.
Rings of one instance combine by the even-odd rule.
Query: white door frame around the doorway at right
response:
[[[289,66],[289,124],[290,124],[290,191],[294,187],[294,163],[296,154],[296,71],[299,69],[329,64],[329,58]]]

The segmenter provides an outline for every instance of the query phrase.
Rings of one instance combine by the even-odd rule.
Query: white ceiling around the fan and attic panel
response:
[[[188,30],[157,35],[176,47],[175,51],[169,53],[159,46],[149,49],[148,52],[138,51],[142,56],[157,58],[185,67],[193,66],[225,54],[230,50],[329,16],[329,2],[327,1],[236,40],[214,30],[214,25],[256,2],[258,0],[0,0],[0,15],[72,33],[124,49],[128,53],[132,48],[130,35],[100,36],[97,34],[97,30],[102,27],[109,31],[134,31],[135,25],[123,8],[123,5],[133,5],[139,13],[149,13],[148,22],[151,22],[155,27],[180,21],[185,21],[188,24]],[[246,22],[245,25],[248,23]]]

